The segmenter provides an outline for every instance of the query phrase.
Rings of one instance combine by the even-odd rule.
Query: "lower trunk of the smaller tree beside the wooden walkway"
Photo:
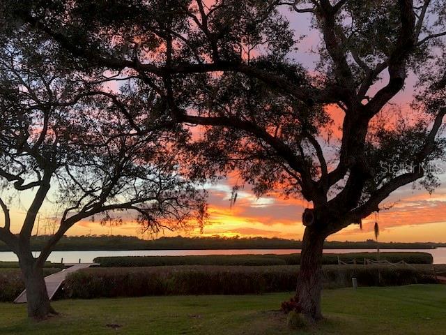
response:
[[[49,304],[43,268],[38,266],[33,258],[32,260],[20,260],[20,267],[25,282],[28,316],[42,320],[56,314]]]

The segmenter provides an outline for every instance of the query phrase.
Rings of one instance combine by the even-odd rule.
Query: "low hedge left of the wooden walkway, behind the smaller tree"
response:
[[[43,269],[44,276],[60,271],[56,268]],[[0,269],[0,301],[14,301],[25,289],[20,269]]]

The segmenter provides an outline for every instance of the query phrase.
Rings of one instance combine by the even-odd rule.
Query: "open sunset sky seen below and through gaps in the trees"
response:
[[[289,15],[289,14],[286,14]],[[291,19],[291,25],[298,34],[305,34],[298,50],[292,55],[308,68],[314,68],[316,59],[311,52],[319,41],[317,31],[305,30],[309,26],[309,16],[300,16],[299,20]],[[385,79],[385,78],[384,78]],[[408,78],[406,88],[401,91],[394,103],[400,105],[403,111],[410,113],[409,103],[412,101],[415,79]],[[380,211],[372,215],[363,223],[363,229],[358,225],[350,227],[330,236],[329,240],[364,241],[374,238],[374,223],[380,225],[380,241],[434,241],[446,242],[446,176],[441,175],[442,186],[429,195],[427,191],[413,188],[411,185],[400,188],[393,193],[384,204],[392,204],[387,211]],[[218,184],[208,185],[209,191],[209,219],[203,228],[189,228],[183,231],[164,231],[161,236],[213,236],[226,237],[282,237],[286,239],[302,239],[302,211],[309,207],[302,199],[283,199],[279,196],[256,198],[249,186],[238,192],[238,199],[234,206],[230,206],[231,191],[234,185],[226,179]],[[15,201],[11,209],[13,230],[18,231],[24,218],[26,207],[29,206],[31,194],[23,195],[20,201]],[[48,199],[51,202],[51,199]],[[49,207],[47,207],[49,208]],[[35,227],[33,233],[50,232],[48,212],[40,215],[39,230]],[[136,235],[141,238],[153,238],[148,234],[141,234],[136,223],[127,222],[118,227],[101,226],[98,222],[83,221],[73,227],[68,234],[125,234]]]

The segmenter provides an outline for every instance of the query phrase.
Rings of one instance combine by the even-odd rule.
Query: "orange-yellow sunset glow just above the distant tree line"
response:
[[[229,184],[230,185],[230,184]],[[229,206],[230,186],[226,191],[213,190],[210,195],[209,218],[203,233],[196,223],[184,230],[164,230],[157,236],[141,234],[137,223],[130,218],[117,227],[101,226],[97,222],[83,221],[75,225],[69,235],[88,234],[123,234],[144,239],[162,236],[215,236],[222,237],[281,237],[285,239],[302,239],[304,228],[301,222],[302,210],[307,207],[298,199],[283,200],[281,198],[257,199],[249,191],[240,191],[233,207]],[[221,185],[215,186],[220,188]],[[380,241],[446,241],[446,193],[429,195],[405,189],[406,196],[399,199],[393,195],[389,202],[396,202],[388,211],[381,212],[378,217],[380,225]],[[23,218],[24,214],[13,213],[15,218]],[[17,220],[20,222],[20,220]],[[330,236],[330,241],[364,241],[374,239],[372,215],[363,222],[363,230],[358,225]],[[18,227],[17,227],[18,228]],[[16,228],[16,230],[18,230]],[[33,234],[36,233],[36,228]],[[40,226],[39,234],[43,234]]]

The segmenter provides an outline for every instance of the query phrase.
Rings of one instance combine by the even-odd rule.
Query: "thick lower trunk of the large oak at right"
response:
[[[314,228],[305,228],[300,256],[296,298],[302,314],[310,322],[323,318],[321,311],[322,251],[325,235]]]

